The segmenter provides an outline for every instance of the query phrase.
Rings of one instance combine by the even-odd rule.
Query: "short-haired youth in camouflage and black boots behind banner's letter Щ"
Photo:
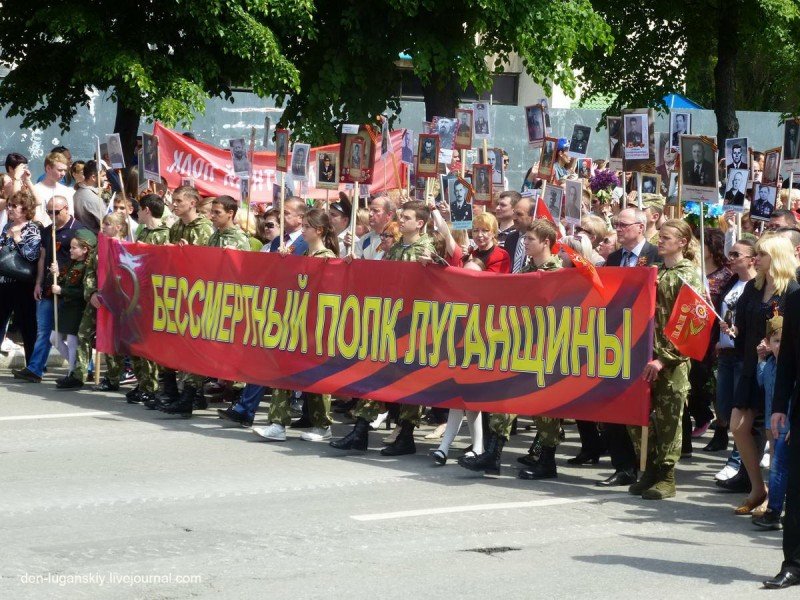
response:
[[[525,245],[525,253],[529,261],[521,273],[557,271],[562,268],[561,259],[553,255],[552,247],[556,243],[557,231],[552,223],[544,219],[536,219],[529,226],[521,243]],[[503,446],[511,436],[511,427],[517,415],[493,413],[489,417],[489,440],[483,454],[465,455],[458,459],[458,464],[470,471],[484,471],[497,475],[500,473],[500,457]],[[522,470],[522,479],[545,479],[556,477],[555,451],[559,442],[561,429],[560,419],[536,417],[536,430],[542,443],[539,460],[531,469]]]

